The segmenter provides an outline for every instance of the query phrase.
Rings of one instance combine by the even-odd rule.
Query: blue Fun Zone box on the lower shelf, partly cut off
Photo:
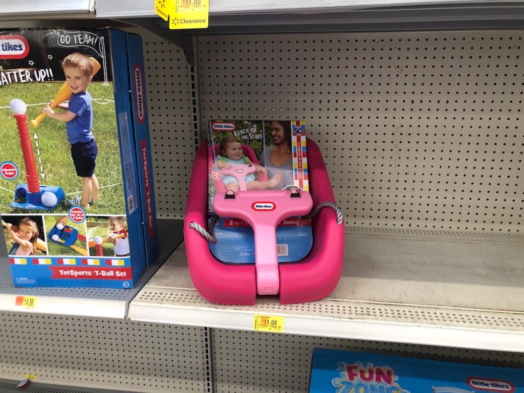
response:
[[[517,368],[477,366],[316,348],[310,393],[524,392]]]

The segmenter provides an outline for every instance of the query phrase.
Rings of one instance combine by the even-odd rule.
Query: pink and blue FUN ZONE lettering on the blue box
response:
[[[333,378],[331,384],[337,387],[337,393],[409,393],[397,383],[398,377],[389,366],[374,366],[368,363],[364,366],[361,362],[347,364],[337,363],[339,378]]]

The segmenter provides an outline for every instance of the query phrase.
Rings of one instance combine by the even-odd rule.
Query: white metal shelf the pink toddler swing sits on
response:
[[[256,314],[275,315],[289,334],[524,352],[522,239],[452,238],[352,232],[330,298],[281,305],[258,297],[254,306],[204,300],[182,244],[129,304],[128,318],[253,330]]]

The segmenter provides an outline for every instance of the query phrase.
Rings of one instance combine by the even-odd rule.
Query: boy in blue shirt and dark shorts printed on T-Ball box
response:
[[[91,130],[93,127],[91,94],[86,91],[93,79],[93,63],[89,56],[75,52],[62,61],[62,69],[65,82],[73,92],[69,104],[59,105],[66,112],[54,112],[51,107],[53,101],[46,105],[42,112],[55,120],[65,122],[74,167],[78,176],[82,178],[82,196],[80,201],[74,204],[87,208],[90,199],[96,202],[99,198],[99,183],[94,173],[98,148]]]

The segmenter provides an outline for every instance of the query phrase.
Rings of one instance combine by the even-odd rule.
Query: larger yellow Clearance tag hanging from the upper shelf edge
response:
[[[173,0],[170,29],[205,29],[209,26],[209,0]]]

